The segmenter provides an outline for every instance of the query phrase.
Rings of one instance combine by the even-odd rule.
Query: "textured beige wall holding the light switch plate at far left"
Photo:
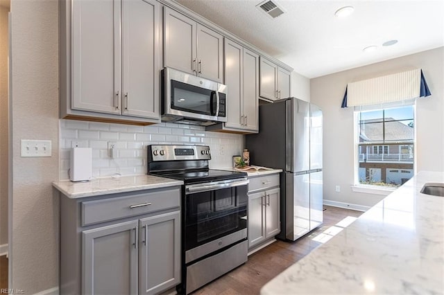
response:
[[[58,286],[58,1],[12,0],[12,285]],[[20,157],[21,139],[52,141],[52,157]]]

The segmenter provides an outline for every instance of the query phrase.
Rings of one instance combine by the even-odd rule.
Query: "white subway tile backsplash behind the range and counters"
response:
[[[242,151],[242,136],[206,132],[205,127],[160,123],[149,126],[93,123],[60,120],[60,179],[69,179],[71,143],[83,141],[92,147],[93,177],[146,174],[147,145],[190,144],[210,145],[210,168],[232,166],[232,156]],[[114,159],[108,156],[108,141],[117,143]],[[223,154],[220,147],[223,146]]]

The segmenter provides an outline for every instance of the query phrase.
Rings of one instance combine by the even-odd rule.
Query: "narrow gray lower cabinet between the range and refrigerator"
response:
[[[250,179],[248,188],[248,249],[280,233],[279,174]]]

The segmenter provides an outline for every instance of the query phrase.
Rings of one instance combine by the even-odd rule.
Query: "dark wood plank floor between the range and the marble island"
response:
[[[345,217],[359,217],[362,212],[324,206],[324,222],[321,227],[296,242],[278,240],[268,247],[248,256],[248,261],[230,271],[225,276],[198,289],[194,294],[259,294],[259,290],[294,262],[300,260],[321,242],[316,242],[319,234]]]

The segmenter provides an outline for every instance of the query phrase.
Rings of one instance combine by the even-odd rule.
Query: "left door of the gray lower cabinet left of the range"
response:
[[[83,231],[82,294],[137,294],[137,226]]]

